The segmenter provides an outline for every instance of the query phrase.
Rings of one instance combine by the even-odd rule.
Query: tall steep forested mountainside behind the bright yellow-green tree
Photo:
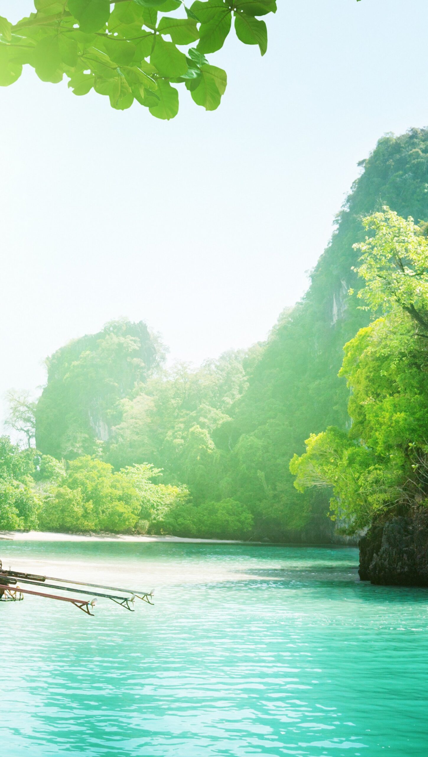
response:
[[[236,497],[255,516],[256,537],[328,540],[330,492],[314,487],[298,494],[288,469],[304,440],[328,426],[349,425],[346,375],[338,377],[346,344],[370,314],[350,297],[361,287],[355,242],[364,242],[361,217],[388,204],[400,216],[428,218],[428,131],[412,129],[380,139],[337,217],[337,229],[311,275],[302,301],[284,312],[258,360],[248,388],[229,410],[219,438],[222,496]],[[230,449],[229,449],[230,445]]]

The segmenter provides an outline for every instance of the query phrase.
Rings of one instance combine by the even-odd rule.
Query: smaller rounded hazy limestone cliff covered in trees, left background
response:
[[[110,322],[60,347],[46,360],[48,381],[36,408],[36,446],[72,459],[99,452],[120,421],[119,400],[157,365],[157,346],[142,321]]]

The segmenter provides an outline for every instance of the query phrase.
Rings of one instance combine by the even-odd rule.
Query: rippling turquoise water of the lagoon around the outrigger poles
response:
[[[0,606],[5,757],[426,757],[428,592],[348,548],[2,542],[5,565],[156,588],[134,614]]]

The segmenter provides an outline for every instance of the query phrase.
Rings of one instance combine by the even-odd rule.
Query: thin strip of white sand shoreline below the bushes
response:
[[[132,536],[132,534],[57,534],[53,531],[0,531],[0,540],[6,541],[169,541],[180,544],[248,544],[233,539],[192,539],[180,536]],[[259,542],[251,542],[259,544]]]

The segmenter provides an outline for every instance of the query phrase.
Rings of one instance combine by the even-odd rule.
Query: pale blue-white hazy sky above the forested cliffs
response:
[[[17,20],[29,0],[0,0]],[[264,339],[307,287],[377,139],[428,123],[426,0],[279,0],[268,52],[231,36],[218,111],[0,89],[0,397],[120,316],[200,363]],[[181,90],[181,86],[179,87]]]

